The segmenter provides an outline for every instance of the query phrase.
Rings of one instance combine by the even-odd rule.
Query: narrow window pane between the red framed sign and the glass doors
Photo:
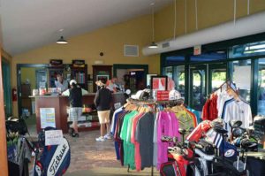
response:
[[[175,88],[181,94],[181,96],[185,97],[185,66],[179,65],[174,66],[174,82]]]

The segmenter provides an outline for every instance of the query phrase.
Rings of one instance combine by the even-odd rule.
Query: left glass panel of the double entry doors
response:
[[[190,106],[201,111],[207,96],[207,65],[196,65],[190,68]]]

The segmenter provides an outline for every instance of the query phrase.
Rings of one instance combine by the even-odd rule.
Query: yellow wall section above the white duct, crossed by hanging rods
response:
[[[186,4],[185,4],[186,2]],[[234,17],[233,0],[197,0],[198,30],[216,26]],[[250,0],[250,14],[265,10],[265,0]],[[186,9],[186,13],[185,13]],[[186,25],[185,25],[186,14]],[[237,0],[237,18],[247,15],[247,0]],[[176,36],[196,31],[195,0],[177,0]],[[186,30],[185,30],[186,29]],[[174,4],[155,13],[155,41],[174,36]]]

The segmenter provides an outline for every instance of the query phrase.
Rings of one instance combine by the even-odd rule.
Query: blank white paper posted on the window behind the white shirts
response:
[[[236,83],[237,88],[250,90],[251,67],[235,66],[234,82]]]

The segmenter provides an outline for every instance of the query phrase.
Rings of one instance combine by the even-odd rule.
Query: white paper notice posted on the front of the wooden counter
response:
[[[48,126],[56,127],[54,108],[40,108],[40,114],[42,129]]]

